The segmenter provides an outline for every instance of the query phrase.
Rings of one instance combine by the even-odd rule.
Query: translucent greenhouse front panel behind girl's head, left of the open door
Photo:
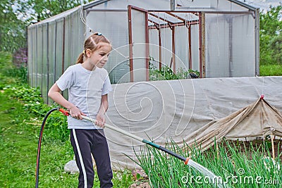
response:
[[[87,25],[94,32],[101,32],[111,42],[112,51],[105,66],[111,83],[129,82],[127,11],[90,11],[86,20]],[[87,31],[89,31],[88,29]],[[90,32],[87,32],[86,37],[90,34]]]

